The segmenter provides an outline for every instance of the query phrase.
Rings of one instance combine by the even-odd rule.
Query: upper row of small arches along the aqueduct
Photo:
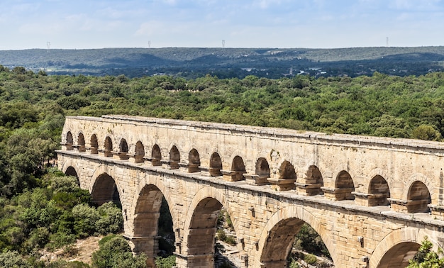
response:
[[[335,176],[334,188],[324,187],[323,176],[321,170],[316,165],[311,165],[305,172],[303,179],[296,177],[294,165],[288,160],[279,163],[276,170],[272,172],[270,164],[266,157],[259,157],[255,162],[254,173],[249,174],[245,167],[243,158],[235,155],[228,165],[228,169],[223,169],[223,162],[218,152],[212,152],[209,157],[209,167],[201,166],[201,157],[196,149],[188,152],[187,157],[182,157],[176,145],[172,145],[167,159],[162,159],[162,150],[160,146],[152,145],[150,153],[146,155],[147,150],[139,140],[135,143],[133,152],[129,152],[126,139],[121,138],[118,147],[113,146],[110,136],[106,136],[103,146],[99,147],[96,134],[91,135],[89,146],[86,147],[83,133],[77,136],[77,144],[74,145],[72,133],[66,135],[65,146],[67,150],[76,148],[79,152],[86,152],[87,149],[91,154],[101,152],[105,157],[118,157],[120,160],[128,160],[131,157],[136,163],[145,161],[151,162],[153,166],[162,166],[165,164],[169,169],[186,169],[189,173],[206,172],[211,177],[224,176],[230,181],[240,181],[250,179],[255,184],[272,184],[285,185],[280,189],[296,189],[298,193],[305,195],[324,195],[337,201],[365,199],[367,206],[390,206],[391,193],[387,179],[382,175],[375,175],[370,179],[367,186],[367,193],[355,191],[355,182],[347,170],[341,170]],[[149,150],[148,150],[149,152]],[[273,174],[273,175],[272,175]],[[406,195],[405,207],[408,213],[429,212],[431,204],[431,194],[424,182],[416,180],[409,186]],[[360,202],[360,204],[363,204]]]

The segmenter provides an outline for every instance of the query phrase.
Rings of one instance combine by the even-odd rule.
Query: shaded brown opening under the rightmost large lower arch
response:
[[[401,242],[388,250],[379,261],[377,268],[407,267],[421,245],[416,242]]]

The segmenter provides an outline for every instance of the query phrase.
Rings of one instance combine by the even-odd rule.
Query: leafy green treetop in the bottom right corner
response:
[[[409,268],[439,268],[444,267],[444,258],[440,257],[443,255],[443,250],[440,248],[438,252],[434,252],[432,250],[433,244],[428,240],[427,237],[424,237],[424,240],[421,242],[421,246],[416,252],[416,255],[413,259],[409,260]]]

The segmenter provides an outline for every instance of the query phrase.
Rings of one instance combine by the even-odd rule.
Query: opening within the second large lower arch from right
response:
[[[330,253],[316,230],[304,220],[287,218],[270,230],[260,262],[265,267],[293,267],[301,259],[305,259],[306,255],[316,256],[311,256],[311,264],[333,264]]]

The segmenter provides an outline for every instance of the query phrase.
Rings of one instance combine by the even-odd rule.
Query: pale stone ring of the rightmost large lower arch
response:
[[[389,259],[398,260],[409,259],[413,257],[414,253],[412,255],[412,252],[416,252],[418,250],[422,240],[426,236],[428,237],[428,240],[433,243],[433,250],[436,250],[439,243],[433,239],[433,234],[426,232],[425,229],[404,227],[393,230],[391,233],[386,235],[374,249],[373,254],[369,260],[370,267],[394,267],[387,266],[391,264],[389,262]],[[403,244],[404,247],[398,246],[401,244]]]

